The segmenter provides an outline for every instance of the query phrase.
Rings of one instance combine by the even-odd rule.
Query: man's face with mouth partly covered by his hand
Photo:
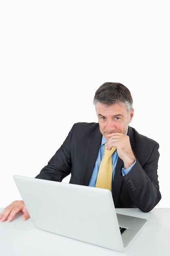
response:
[[[125,134],[134,114],[132,108],[128,115],[124,104],[113,104],[108,107],[103,103],[97,103],[96,112],[100,132],[104,135],[107,141],[109,139],[107,135],[110,133],[121,132]]]

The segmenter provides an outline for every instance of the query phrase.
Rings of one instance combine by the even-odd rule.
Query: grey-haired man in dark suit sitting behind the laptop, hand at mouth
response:
[[[159,144],[140,135],[129,124],[134,115],[132,96],[121,83],[104,83],[95,93],[98,123],[74,124],[63,145],[36,178],[62,181],[71,173],[70,183],[95,186],[100,162],[107,150],[112,155],[111,192],[116,208],[148,212],[161,200],[157,175]],[[23,201],[14,201],[0,214],[10,222],[18,211],[29,218]]]

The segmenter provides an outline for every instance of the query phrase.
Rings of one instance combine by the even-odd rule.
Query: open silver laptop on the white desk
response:
[[[146,219],[116,214],[107,189],[13,178],[38,229],[124,252],[147,223]]]

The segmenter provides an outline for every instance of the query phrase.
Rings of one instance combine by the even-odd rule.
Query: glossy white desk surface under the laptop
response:
[[[0,212],[3,209],[0,208]],[[123,253],[36,229],[33,222],[18,213],[12,222],[0,223],[2,256],[170,256],[170,208],[155,208],[149,213],[139,209],[117,209],[122,213],[146,218],[148,224]]]

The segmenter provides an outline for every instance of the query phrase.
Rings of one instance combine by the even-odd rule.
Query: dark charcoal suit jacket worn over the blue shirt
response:
[[[157,176],[159,144],[128,128],[130,144],[136,156],[132,170],[122,176],[123,161],[118,158],[113,182],[116,208],[134,208],[148,212],[161,199]],[[102,134],[97,123],[74,124],[63,145],[36,178],[62,181],[71,173],[70,183],[88,186],[99,152]]]

